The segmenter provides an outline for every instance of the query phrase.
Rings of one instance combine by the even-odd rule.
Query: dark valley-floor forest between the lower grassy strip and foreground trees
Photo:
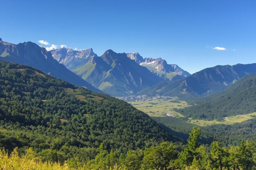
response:
[[[187,118],[176,117],[152,117],[157,122],[161,122],[171,134],[186,140],[188,134],[195,126],[188,121]],[[200,127],[200,126],[197,126]],[[249,119],[241,123],[231,125],[216,124],[200,127],[201,144],[210,145],[213,141],[219,141],[225,147],[237,146],[242,140],[256,141],[256,119]]]

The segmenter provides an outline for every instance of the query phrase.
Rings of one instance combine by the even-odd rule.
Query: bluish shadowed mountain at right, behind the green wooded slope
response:
[[[140,91],[142,95],[171,95],[182,98],[202,97],[226,89],[241,77],[256,73],[256,64],[215,66],[177,82],[160,83]]]

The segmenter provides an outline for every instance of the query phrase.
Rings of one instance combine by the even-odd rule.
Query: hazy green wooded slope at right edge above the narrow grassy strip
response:
[[[188,117],[209,120],[256,112],[256,74],[247,75],[208,98],[211,99],[207,102],[180,111]]]

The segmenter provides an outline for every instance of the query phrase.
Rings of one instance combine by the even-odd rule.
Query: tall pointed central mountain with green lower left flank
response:
[[[74,73],[113,96],[132,95],[163,81],[147,68],[130,60],[126,53],[115,53],[112,50],[100,57],[91,57]]]

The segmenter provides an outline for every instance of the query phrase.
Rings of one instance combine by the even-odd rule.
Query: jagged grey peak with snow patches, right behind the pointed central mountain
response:
[[[135,60],[135,62],[148,68],[152,73],[166,81],[177,81],[190,75],[177,66],[177,64],[167,64],[166,60],[162,58],[143,58],[139,53],[128,53],[127,57],[131,60]]]

